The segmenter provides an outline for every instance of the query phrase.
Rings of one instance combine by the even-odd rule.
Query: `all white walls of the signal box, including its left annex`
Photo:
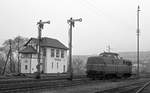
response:
[[[67,51],[64,50],[64,58],[61,58],[61,49],[58,49],[59,57],[56,57],[56,48],[45,48],[46,56],[43,56],[41,49],[41,71],[44,73],[63,73],[67,72]],[[51,49],[54,49],[54,57],[51,57]],[[24,55],[24,54],[22,54]],[[21,73],[34,73],[37,71],[37,54],[29,54],[21,58]],[[27,66],[27,68],[25,67]]]

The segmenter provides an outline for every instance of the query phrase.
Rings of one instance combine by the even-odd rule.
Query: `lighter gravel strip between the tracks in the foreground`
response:
[[[138,81],[143,81],[146,79],[139,79]],[[123,86],[126,84],[134,83],[136,80],[128,80],[128,81],[120,81],[120,82],[96,82],[96,83],[89,83],[84,85],[78,86],[70,86],[64,88],[57,88],[57,89],[42,89],[42,90],[34,90],[22,93],[95,93],[98,91],[103,91],[110,88],[116,88],[118,86]]]

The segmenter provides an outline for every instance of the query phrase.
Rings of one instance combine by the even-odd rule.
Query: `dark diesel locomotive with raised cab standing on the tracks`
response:
[[[95,78],[128,78],[132,75],[132,62],[124,60],[117,53],[103,52],[98,56],[88,57],[87,77]]]

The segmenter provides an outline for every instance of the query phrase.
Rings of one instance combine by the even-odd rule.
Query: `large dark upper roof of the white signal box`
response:
[[[28,45],[28,43],[30,41],[34,41],[35,43],[37,43],[37,38],[31,38],[26,44],[25,46]],[[64,44],[62,44],[60,41],[58,41],[57,39],[52,39],[52,38],[48,38],[48,37],[43,37],[41,40],[41,47],[53,47],[53,48],[60,48],[60,49],[68,49]]]

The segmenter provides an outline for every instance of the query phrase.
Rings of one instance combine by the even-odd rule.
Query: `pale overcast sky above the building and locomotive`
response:
[[[73,28],[73,54],[136,51],[136,14],[140,5],[140,50],[150,51],[150,0],[0,0],[0,44],[18,35],[37,37],[36,23],[50,20],[43,37],[68,46],[67,19]]]

